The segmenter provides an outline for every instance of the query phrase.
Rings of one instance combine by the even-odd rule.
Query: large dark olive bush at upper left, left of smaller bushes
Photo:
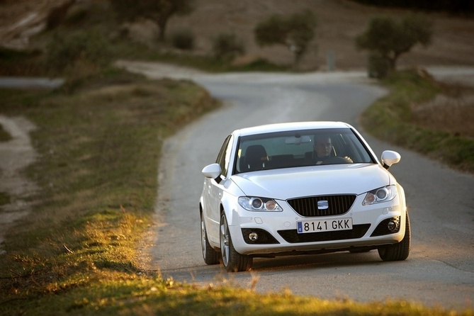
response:
[[[45,64],[50,74],[97,72],[112,60],[108,41],[98,30],[54,33],[47,45]]]

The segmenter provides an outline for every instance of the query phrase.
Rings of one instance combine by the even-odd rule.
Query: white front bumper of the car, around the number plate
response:
[[[395,199],[388,203],[362,206],[356,201],[347,213],[338,216],[303,218],[289,205],[283,212],[249,212],[233,210],[229,230],[239,254],[277,256],[298,253],[337,252],[359,247],[375,249],[400,242],[405,235],[406,207]],[[283,203],[284,204],[284,203]],[[301,220],[335,220],[351,218],[351,230],[298,233]],[[397,230],[385,227],[397,220]],[[252,234],[252,235],[251,235]],[[255,239],[256,237],[256,239]]]

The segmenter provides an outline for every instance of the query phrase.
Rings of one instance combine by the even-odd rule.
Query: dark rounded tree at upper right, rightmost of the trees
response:
[[[387,61],[390,71],[395,71],[400,55],[417,44],[429,46],[432,33],[432,23],[424,16],[410,15],[400,23],[390,17],[376,17],[356,38],[356,47],[377,54]]]

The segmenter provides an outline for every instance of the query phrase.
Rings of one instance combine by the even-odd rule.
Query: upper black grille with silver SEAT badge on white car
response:
[[[317,216],[342,215],[347,213],[356,201],[355,195],[347,196],[310,196],[309,198],[293,198],[288,204],[301,216],[313,218]],[[318,202],[320,207],[318,208]],[[324,208],[322,204],[326,204]]]

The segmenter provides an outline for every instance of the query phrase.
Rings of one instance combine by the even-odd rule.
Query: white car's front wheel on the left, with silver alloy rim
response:
[[[228,272],[248,271],[252,269],[252,256],[239,254],[235,251],[224,213],[220,216],[220,254],[222,265]]]

